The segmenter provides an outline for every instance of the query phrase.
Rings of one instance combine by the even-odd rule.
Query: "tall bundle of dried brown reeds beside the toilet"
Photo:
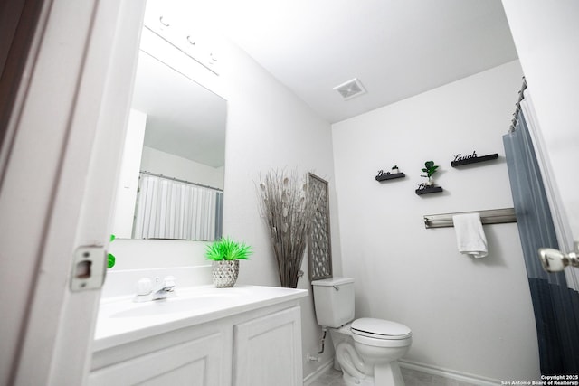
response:
[[[270,171],[260,176],[261,211],[278,263],[281,287],[298,287],[312,214],[319,199],[296,172]]]

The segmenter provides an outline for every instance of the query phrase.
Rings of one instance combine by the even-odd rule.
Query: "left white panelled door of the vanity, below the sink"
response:
[[[90,372],[89,385],[220,385],[222,347],[222,334],[210,334]]]

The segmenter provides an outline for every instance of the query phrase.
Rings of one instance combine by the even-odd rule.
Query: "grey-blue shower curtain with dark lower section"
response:
[[[558,249],[555,227],[535,150],[522,112],[514,132],[503,137],[518,232],[535,311],[541,373],[579,374],[579,293],[565,274],[546,273],[537,249]],[[574,380],[576,381],[576,380]]]

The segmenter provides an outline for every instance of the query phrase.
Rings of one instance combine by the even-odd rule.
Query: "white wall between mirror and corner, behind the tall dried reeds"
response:
[[[341,272],[336,187],[330,125],[318,118],[303,101],[264,71],[244,52],[228,56],[227,141],[225,150],[224,233],[247,240],[255,254],[242,263],[240,282],[279,286],[277,268],[263,219],[259,217],[256,183],[273,168],[313,172],[329,183],[330,229],[334,271]],[[223,64],[223,63],[222,63]],[[299,287],[310,290],[308,261]],[[302,308],[302,348],[318,353],[320,328],[313,298]],[[304,362],[304,376],[333,354],[331,344],[320,362]]]

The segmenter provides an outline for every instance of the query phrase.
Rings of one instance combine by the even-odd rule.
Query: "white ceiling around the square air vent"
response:
[[[332,123],[517,59],[500,0],[176,3]],[[353,78],[367,93],[344,101],[333,88]]]

